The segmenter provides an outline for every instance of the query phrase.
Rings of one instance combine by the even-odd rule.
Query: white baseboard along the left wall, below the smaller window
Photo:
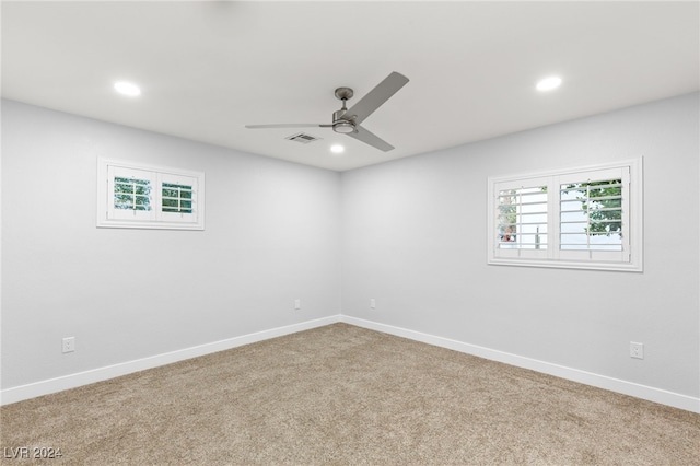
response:
[[[184,348],[182,350],[142,358],[135,361],[121,362],[119,364],[108,365],[105,368],[93,369],[75,374],[5,388],[3,391],[0,391],[0,405],[9,405],[11,403],[22,401],[24,399],[35,398],[37,396],[62,392],[65,389],[106,381],[108,378],[118,377],[120,375],[127,375],[133,372],[171,364],[173,362],[184,361],[186,359],[197,358],[212,352],[224,351],[243,345],[254,343],[256,341],[262,341],[270,338],[281,337],[283,335],[295,334],[298,331],[308,330],[316,327],[323,327],[325,325],[334,324],[337,322],[340,322],[340,316],[334,315],[330,317],[307,321],[300,324],[288,325],[284,327],[271,328],[269,330],[257,331],[255,334],[243,335],[240,337],[229,338],[211,343]]]

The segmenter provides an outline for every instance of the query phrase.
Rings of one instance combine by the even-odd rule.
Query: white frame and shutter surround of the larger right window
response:
[[[642,158],[578,168],[488,178],[488,259],[490,265],[643,271]],[[567,251],[560,246],[560,187],[568,183],[622,179],[622,251]],[[499,246],[499,193],[547,187],[547,246],[541,249]]]

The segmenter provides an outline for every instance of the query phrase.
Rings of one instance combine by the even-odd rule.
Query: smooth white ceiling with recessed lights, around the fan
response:
[[[3,1],[1,15],[4,98],[335,171],[700,88],[698,1]],[[362,124],[389,152],[244,127],[329,124],[336,88],[351,107],[392,71],[410,82]],[[551,74],[562,85],[536,91]]]

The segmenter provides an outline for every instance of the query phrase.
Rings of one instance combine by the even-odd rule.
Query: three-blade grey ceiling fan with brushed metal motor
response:
[[[386,101],[396,94],[399,89],[404,88],[408,82],[401,73],[392,72],[388,77],[378,83],[372,91],[360,100],[350,109],[346,107],[346,101],[352,97],[353,91],[350,88],[336,89],[336,97],[342,101],[342,108],[332,114],[332,123],[323,124],[279,124],[279,125],[246,125],[248,129],[266,129],[266,128],[332,128],[334,131],[341,135],[348,135],[359,141],[370,144],[381,151],[387,152],[394,149],[394,145],[384,141],[360,124],[374,110],[380,108]]]

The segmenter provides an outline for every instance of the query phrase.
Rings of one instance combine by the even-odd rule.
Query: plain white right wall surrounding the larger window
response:
[[[343,173],[343,315],[700,410],[698,113],[679,96]],[[488,176],[639,156],[643,273],[487,266]]]

